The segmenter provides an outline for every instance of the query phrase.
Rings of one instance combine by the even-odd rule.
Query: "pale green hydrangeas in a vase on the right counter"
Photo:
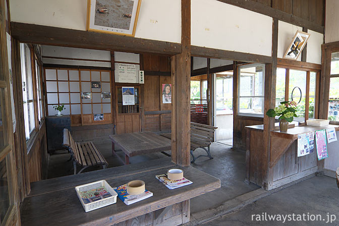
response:
[[[281,132],[287,132],[289,127],[289,123],[293,121],[293,117],[297,117],[296,111],[297,102],[296,101],[283,101],[280,102],[280,105],[274,107],[273,109],[269,109],[266,112],[268,117],[276,117],[279,116],[279,127]]]

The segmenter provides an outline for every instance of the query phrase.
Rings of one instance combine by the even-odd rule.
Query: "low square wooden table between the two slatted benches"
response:
[[[115,151],[115,146],[121,148],[125,153],[125,164],[130,163],[130,157],[154,152],[162,152],[171,150],[171,140],[151,132],[125,133],[118,135],[110,135],[112,141],[112,154],[119,155]],[[119,157],[120,158],[120,157]]]

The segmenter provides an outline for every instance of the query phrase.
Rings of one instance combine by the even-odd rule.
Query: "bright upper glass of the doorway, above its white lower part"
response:
[[[215,103],[217,115],[233,114],[233,75],[216,78]]]

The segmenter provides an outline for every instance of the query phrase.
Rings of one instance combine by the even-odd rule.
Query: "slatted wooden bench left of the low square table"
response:
[[[73,159],[74,174],[77,174],[77,164],[82,166],[79,171],[80,174],[85,168],[93,165],[102,165],[106,168],[108,162],[102,156],[98,148],[93,142],[75,142],[68,129],[64,129],[64,142],[63,145],[71,152],[71,158]]]

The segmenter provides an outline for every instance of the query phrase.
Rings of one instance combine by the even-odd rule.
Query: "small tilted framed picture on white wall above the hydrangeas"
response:
[[[309,33],[297,31],[291,44],[289,45],[289,48],[286,50],[284,54],[284,58],[290,60],[297,60],[301,51],[303,51],[303,48],[305,47],[309,37],[310,37]]]

